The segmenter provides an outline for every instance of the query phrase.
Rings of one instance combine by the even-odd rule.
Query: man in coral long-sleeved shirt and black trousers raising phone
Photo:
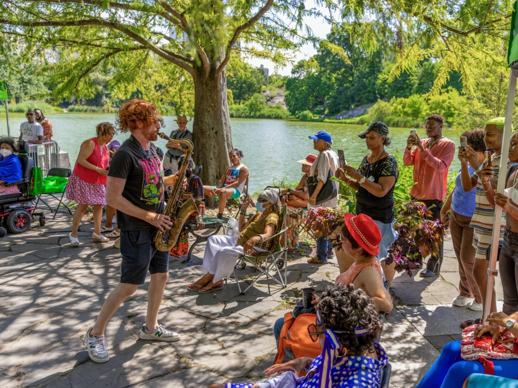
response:
[[[430,114],[426,118],[425,128],[428,139],[419,139],[410,135],[407,139],[403,162],[413,166],[415,185],[410,195],[415,201],[423,202],[431,211],[429,219],[440,219],[441,207],[448,192],[448,169],[455,155],[455,143],[442,135],[443,118],[439,114]],[[442,264],[443,244],[439,245],[437,256],[431,255],[426,268],[419,276],[430,277],[439,274]]]

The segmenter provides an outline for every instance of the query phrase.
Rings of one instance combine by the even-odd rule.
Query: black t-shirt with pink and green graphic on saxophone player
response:
[[[126,180],[122,196],[142,209],[160,213],[164,210],[164,170],[151,143],[144,151],[135,138],[130,137],[113,155],[108,176]],[[122,230],[154,229],[150,223],[117,210],[117,225]]]

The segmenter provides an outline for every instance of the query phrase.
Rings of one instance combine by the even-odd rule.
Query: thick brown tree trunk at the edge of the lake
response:
[[[230,166],[228,153],[232,150],[230,116],[226,93],[226,73],[219,76],[215,65],[205,76],[203,69],[194,75],[194,160],[202,166],[200,178],[204,185],[218,183]],[[213,206],[209,198],[207,203]]]

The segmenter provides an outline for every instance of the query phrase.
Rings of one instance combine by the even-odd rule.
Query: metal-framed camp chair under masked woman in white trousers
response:
[[[255,244],[256,247],[264,249],[264,251],[254,249],[251,255],[239,255],[236,266],[234,267],[234,279],[236,279],[237,289],[241,295],[244,295],[245,292],[248,291],[250,287],[254,285],[254,283],[261,276],[265,275],[268,279],[271,277],[278,285],[283,288],[286,287],[286,251],[287,248],[281,247],[280,238],[282,235],[285,237],[285,233],[287,228],[284,227],[284,223],[286,221],[286,212],[287,206],[282,206],[281,212],[281,222],[277,225],[275,234],[261,243]],[[285,246],[286,244],[284,244]],[[249,286],[241,290],[241,285],[239,284],[239,277],[237,276],[236,270],[238,268],[242,268],[242,265],[250,265],[255,268],[256,271],[261,272],[258,276],[256,276]],[[263,268],[264,265],[264,268]],[[281,275],[281,269],[284,267],[284,278]],[[272,269],[275,269],[275,274],[271,275],[268,272]],[[276,278],[278,276],[278,279]],[[225,279],[225,282],[227,279]]]

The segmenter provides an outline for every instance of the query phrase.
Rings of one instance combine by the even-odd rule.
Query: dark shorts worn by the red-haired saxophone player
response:
[[[151,243],[153,230],[121,230],[121,283],[142,285],[151,275],[169,271],[169,251]]]

